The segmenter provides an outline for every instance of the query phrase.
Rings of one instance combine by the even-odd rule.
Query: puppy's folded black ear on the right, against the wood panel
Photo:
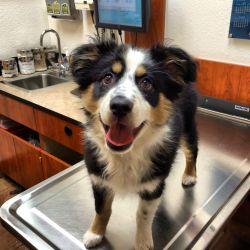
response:
[[[196,81],[197,64],[184,50],[157,45],[151,49],[156,62],[162,62],[164,72],[180,85]]]

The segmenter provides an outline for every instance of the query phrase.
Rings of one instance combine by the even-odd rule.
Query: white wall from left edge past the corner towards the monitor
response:
[[[0,59],[39,46],[40,35],[48,28],[59,33],[62,50],[88,42],[95,33],[89,12],[83,11],[82,20],[54,19],[47,15],[45,0],[0,0],[0,23]],[[44,44],[57,45],[55,35],[46,34]]]

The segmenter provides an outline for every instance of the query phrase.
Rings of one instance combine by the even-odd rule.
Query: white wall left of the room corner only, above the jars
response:
[[[45,0],[0,0],[0,59],[16,55],[17,49],[39,45],[49,27]],[[45,40],[48,44],[50,37]]]

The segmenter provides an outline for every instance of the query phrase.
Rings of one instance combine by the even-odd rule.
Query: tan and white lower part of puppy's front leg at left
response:
[[[105,198],[101,212],[95,214],[93,222],[83,236],[85,247],[94,247],[102,241],[111,215],[113,199],[114,194],[109,192]]]

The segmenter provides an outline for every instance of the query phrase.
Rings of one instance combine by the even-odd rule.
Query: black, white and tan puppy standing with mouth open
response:
[[[196,63],[178,48],[107,41],[83,45],[72,58],[96,210],[84,244],[101,242],[115,193],[135,192],[140,201],[134,248],[153,249],[152,221],[180,145],[186,156],[182,183],[196,181]]]

